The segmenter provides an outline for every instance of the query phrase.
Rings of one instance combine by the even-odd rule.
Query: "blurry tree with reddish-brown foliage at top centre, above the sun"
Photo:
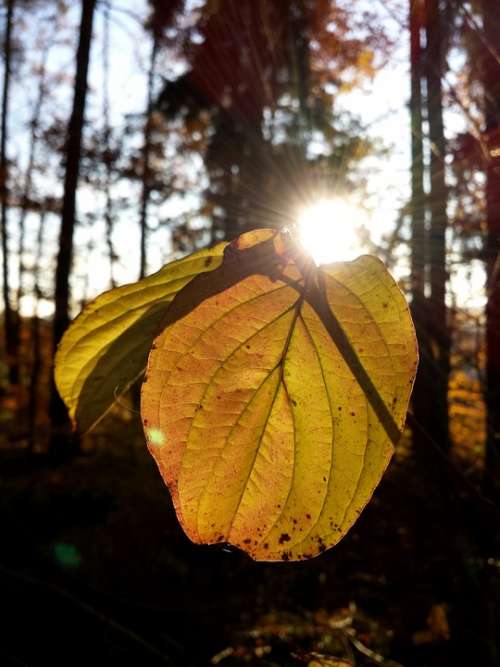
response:
[[[311,198],[349,189],[349,167],[368,145],[355,119],[334,111],[334,93],[349,69],[372,74],[372,48],[384,48],[376,24],[361,40],[348,36],[352,23],[328,2],[221,2],[181,36],[189,69],[167,83],[159,104],[183,120],[186,136],[191,129],[203,138],[212,239],[289,223]],[[311,156],[313,132],[321,150]]]

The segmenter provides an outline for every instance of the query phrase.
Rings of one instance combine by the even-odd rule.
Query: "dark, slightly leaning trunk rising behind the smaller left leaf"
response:
[[[75,91],[73,110],[68,124],[64,196],[55,281],[55,314],[53,325],[54,353],[69,324],[69,277],[73,259],[73,233],[76,217],[76,192],[80,168],[85,100],[87,96],[87,72],[89,66],[92,22],[96,0],[82,0],[80,36],[76,54]],[[66,407],[55,385],[52,387],[50,415],[52,423],[51,450],[56,456],[68,447],[70,424]]]

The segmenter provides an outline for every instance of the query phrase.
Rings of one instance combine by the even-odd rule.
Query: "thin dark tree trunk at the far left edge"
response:
[[[12,50],[12,22],[14,14],[14,0],[7,1],[7,18],[5,27],[4,43],[4,77],[2,91],[2,126],[0,138],[0,231],[2,235],[2,278],[3,278],[3,305],[4,305],[4,329],[5,329],[5,351],[9,369],[9,381],[17,384],[19,371],[16,354],[15,320],[16,316],[10,300],[9,286],[9,231],[8,231],[8,199],[9,199],[9,164],[7,159],[7,120],[9,112],[9,87],[11,70]]]

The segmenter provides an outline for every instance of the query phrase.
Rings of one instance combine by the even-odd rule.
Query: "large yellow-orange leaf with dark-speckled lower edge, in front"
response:
[[[165,324],[141,412],[187,535],[257,560],[337,543],[391,458],[417,365],[382,262],[316,269],[281,235],[245,235]]]

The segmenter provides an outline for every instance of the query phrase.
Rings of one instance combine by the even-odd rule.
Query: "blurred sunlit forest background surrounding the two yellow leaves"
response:
[[[1,12],[2,664],[500,664],[496,0]],[[102,290],[331,201],[331,259],[381,257],[411,303],[407,430],[320,558],[195,547],[135,388],[77,438],[54,350]]]

